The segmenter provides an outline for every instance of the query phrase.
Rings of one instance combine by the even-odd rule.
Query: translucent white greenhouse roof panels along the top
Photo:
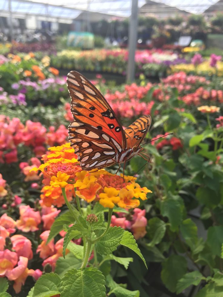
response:
[[[201,14],[219,0],[154,0],[156,3],[176,7],[194,14]],[[75,19],[82,11],[100,12],[128,17],[131,0],[1,0],[0,15],[8,16],[11,2],[12,16],[41,15],[53,18]],[[141,7],[146,0],[138,0]]]

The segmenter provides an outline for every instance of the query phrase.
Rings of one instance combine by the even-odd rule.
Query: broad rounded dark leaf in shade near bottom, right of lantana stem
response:
[[[176,285],[187,272],[185,257],[172,255],[162,262],[161,279],[170,292],[176,291]]]

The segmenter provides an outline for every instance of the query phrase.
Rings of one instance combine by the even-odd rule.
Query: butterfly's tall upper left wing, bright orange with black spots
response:
[[[124,130],[98,89],[77,71],[68,73],[67,86],[74,119],[87,124],[87,128],[95,127],[102,130],[125,149],[127,144]]]

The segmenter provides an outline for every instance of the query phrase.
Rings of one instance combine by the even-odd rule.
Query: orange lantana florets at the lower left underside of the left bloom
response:
[[[45,206],[50,207],[51,205],[54,205],[57,207],[61,207],[65,204],[64,197],[62,195],[62,190],[60,187],[44,186],[41,192],[42,194],[40,195],[40,198],[43,200],[43,204]],[[65,187],[65,192],[68,201],[71,201],[73,196],[75,195],[74,186],[68,184]]]

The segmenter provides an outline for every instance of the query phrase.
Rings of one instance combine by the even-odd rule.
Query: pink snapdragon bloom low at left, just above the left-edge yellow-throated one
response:
[[[27,257],[29,260],[32,259],[32,243],[23,235],[13,235],[11,237],[12,247],[18,256]]]

